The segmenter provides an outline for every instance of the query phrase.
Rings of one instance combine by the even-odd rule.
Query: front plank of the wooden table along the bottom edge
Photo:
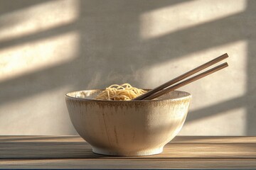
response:
[[[256,159],[6,159],[1,169],[255,169]]]

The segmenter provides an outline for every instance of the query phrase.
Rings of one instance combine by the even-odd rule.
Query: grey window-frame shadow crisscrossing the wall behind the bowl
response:
[[[9,1],[0,14],[40,4],[42,1]],[[46,1],[43,1],[46,2]],[[70,62],[46,67],[0,82],[0,106],[29,96],[72,86],[79,89],[102,89],[110,84],[129,81],[134,86],[143,86],[140,77],[134,78],[138,69],[164,63],[191,52],[225,45],[238,40],[248,40],[247,94],[225,103],[203,108],[188,114],[188,121],[217,115],[233,108],[247,108],[246,135],[256,135],[255,104],[255,32],[244,32],[245,23],[255,20],[256,1],[248,0],[245,12],[237,13],[192,28],[178,30],[151,40],[141,40],[139,16],[147,11],[186,1],[80,1],[80,17],[73,23],[58,26],[43,32],[18,39],[0,40],[0,50],[6,47],[34,42],[70,31],[80,34],[80,51]],[[0,1],[2,4],[3,1]],[[11,23],[12,21],[10,21]],[[255,22],[251,27],[255,28]],[[250,28],[249,30],[256,30]],[[1,29],[1,26],[0,26]],[[216,31],[217,30],[217,31]],[[242,31],[241,31],[242,30]],[[207,43],[206,43],[207,42]],[[117,62],[118,61],[118,64]],[[68,91],[67,91],[68,92]],[[252,102],[250,102],[252,103]],[[4,113],[0,113],[1,114]]]

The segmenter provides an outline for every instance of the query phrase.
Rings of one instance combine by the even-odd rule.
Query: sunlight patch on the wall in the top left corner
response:
[[[20,38],[73,23],[80,14],[78,2],[76,0],[48,1],[1,15],[0,40]]]

